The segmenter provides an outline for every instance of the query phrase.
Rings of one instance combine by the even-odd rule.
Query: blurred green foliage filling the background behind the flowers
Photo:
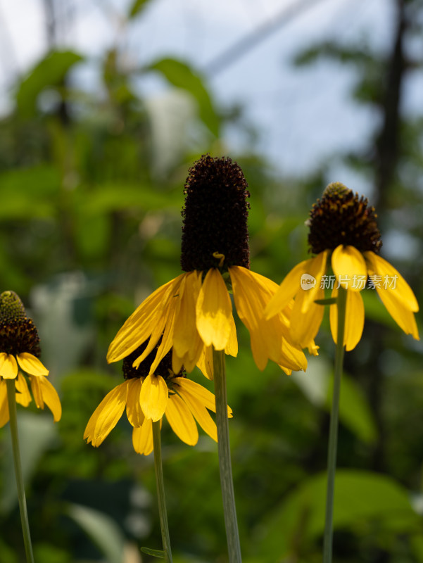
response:
[[[132,3],[127,25],[147,4]],[[317,55],[354,63],[362,79],[357,98],[382,103],[378,82],[368,80],[374,68],[383,75],[376,55],[325,44],[297,62]],[[252,267],[277,282],[307,257],[308,208],[333,179],[324,165],[312,177],[280,178],[253,149],[231,154],[222,141],[227,117],[205,77],[184,61],[128,70],[113,46],[99,62],[95,91],[75,80],[85,63],[72,51],[47,53],[16,84],[13,109],[1,118],[1,287],[31,309],[63,403],[56,425],[49,413],[19,412],[28,510],[37,561],[149,562],[156,558],[141,558],[141,545],[161,548],[152,456],[134,453],[125,417],[97,450],[82,435],[103,396],[122,381],[120,366],[106,364],[108,343],[143,298],[180,272],[187,170],[208,151],[236,157],[251,191]],[[152,74],[168,88],[147,99],[137,81]],[[410,178],[422,177],[415,149],[422,130],[421,119],[403,120],[398,173],[380,210],[384,234],[410,236],[419,249],[423,196]],[[346,161],[374,173],[368,158]],[[421,300],[422,253],[407,253],[398,267]],[[341,393],[335,560],[423,562],[422,348],[374,294],[365,302],[365,334],[347,355]],[[321,559],[334,353],[327,327],[326,319],[320,357],[289,378],[274,365],[258,372],[237,323],[239,357],[228,358],[227,379],[246,563]],[[193,377],[213,390],[201,374]],[[202,434],[189,448],[167,424],[162,442],[175,562],[225,562],[215,443]],[[7,426],[0,448],[0,561],[15,563],[23,546]]]

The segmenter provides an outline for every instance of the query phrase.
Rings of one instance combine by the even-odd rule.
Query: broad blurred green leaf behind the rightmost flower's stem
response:
[[[263,563],[286,557],[293,546],[298,545],[298,538],[303,549],[307,542],[322,535],[326,481],[326,473],[303,481],[263,523],[260,529],[265,529],[266,533],[258,545],[258,550],[263,552]],[[334,530],[350,529],[360,533],[365,522],[374,520],[393,534],[414,533],[419,526],[408,491],[399,483],[381,474],[338,469]]]

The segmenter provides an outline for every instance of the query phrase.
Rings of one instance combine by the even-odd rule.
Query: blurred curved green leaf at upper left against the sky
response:
[[[51,51],[30,72],[16,93],[18,110],[23,117],[31,117],[37,107],[37,96],[46,87],[62,85],[70,68],[82,61],[73,51]]]

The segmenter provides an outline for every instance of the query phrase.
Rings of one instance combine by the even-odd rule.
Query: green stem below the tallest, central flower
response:
[[[214,347],[213,373],[216,398],[217,452],[219,453],[220,486],[222,488],[229,563],[241,563],[241,545],[239,543],[238,524],[236,521],[231,450],[229,445],[225,350],[215,350]]]

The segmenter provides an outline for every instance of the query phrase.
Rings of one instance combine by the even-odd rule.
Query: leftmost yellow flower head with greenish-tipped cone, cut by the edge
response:
[[[15,379],[16,402],[27,407],[32,398],[25,374],[30,379],[34,402],[38,408],[47,405],[54,422],[61,419],[61,401],[46,379],[49,370],[39,360],[37,328],[25,313],[22,301],[14,291],[0,294],[0,427],[9,420],[6,379]]]

